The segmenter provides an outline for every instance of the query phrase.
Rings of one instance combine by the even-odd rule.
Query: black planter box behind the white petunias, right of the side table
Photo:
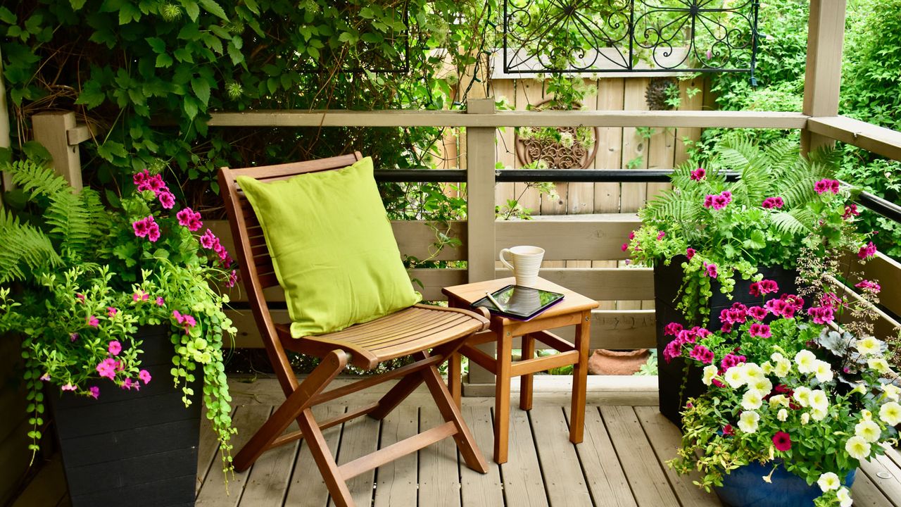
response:
[[[707,315],[706,328],[710,331],[718,331],[721,327],[720,311],[727,309],[735,302],[741,302],[747,306],[758,306],[761,297],[751,296],[751,281],[742,280],[741,275],[735,276],[735,289],[733,299],[730,300],[720,292],[720,284],[715,279],[711,281],[710,288],[714,295],[710,298],[710,306],[700,309],[702,315],[697,322],[687,322],[686,318],[676,309],[678,304],[679,288],[682,287],[682,263],[687,262],[687,257],[679,255],[673,258],[669,266],[659,265],[654,267],[654,309],[657,320],[657,367],[658,382],[660,387],[660,413],[682,428],[682,415],[679,411],[685,405],[688,398],[703,394],[707,386],[701,383],[701,369],[690,366],[686,373],[686,362],[681,358],[673,359],[667,363],[663,358],[663,349],[674,336],[663,336],[663,328],[670,322],[678,322],[684,327],[699,326],[701,318]],[[758,268],[763,278],[778,283],[779,291],[776,295],[795,294],[797,272],[780,267]],[[769,294],[771,298],[773,294]]]

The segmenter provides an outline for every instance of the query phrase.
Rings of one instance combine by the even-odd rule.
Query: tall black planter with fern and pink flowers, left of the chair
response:
[[[231,466],[235,329],[211,285],[235,282],[231,258],[159,162],[109,207],[40,163],[4,169],[24,200],[0,209],[0,332],[23,336],[32,452],[49,400],[74,505],[193,504],[201,399]]]

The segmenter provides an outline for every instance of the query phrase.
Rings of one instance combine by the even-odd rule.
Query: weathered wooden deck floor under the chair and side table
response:
[[[451,439],[426,447],[387,466],[360,475],[350,483],[357,505],[367,506],[701,506],[720,505],[713,494],[676,475],[664,464],[675,455],[678,429],[656,408],[656,379],[589,377],[585,441],[569,443],[567,377],[540,377],[534,408],[512,408],[510,458],[503,466],[491,463],[487,475],[467,468]],[[634,379],[634,377],[633,377]],[[339,381],[341,382],[341,381]],[[516,383],[514,383],[515,385]],[[318,407],[320,415],[337,414],[357,403],[377,399],[380,392],[364,392]],[[514,392],[514,396],[516,393]],[[281,401],[278,383],[232,381],[234,424],[240,433],[235,449]],[[417,429],[442,422],[424,392],[416,392],[387,419],[355,419],[324,432],[337,449],[338,462],[408,437]],[[493,436],[491,398],[464,398],[463,415],[478,445],[490,455]],[[512,405],[515,407],[515,403]],[[489,457],[490,459],[490,457]],[[328,492],[303,442],[268,452],[250,468],[223,484],[212,433],[201,434],[197,466],[198,506],[326,507]],[[61,487],[60,487],[60,484]],[[863,466],[852,494],[855,505],[901,507],[901,455],[887,456]],[[65,506],[65,485],[58,458],[50,462],[14,503],[15,507]]]

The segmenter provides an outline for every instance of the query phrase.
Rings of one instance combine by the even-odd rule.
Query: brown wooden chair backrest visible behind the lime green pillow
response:
[[[274,350],[284,357],[284,351],[278,343],[272,318],[269,315],[264,291],[268,287],[278,285],[275,269],[272,267],[272,259],[269,257],[266,239],[263,237],[263,229],[259,226],[253,207],[244,193],[238,188],[235,181],[239,176],[250,176],[261,181],[286,180],[297,174],[305,172],[329,171],[341,169],[359,161],[362,155],[353,152],[348,155],[319,159],[314,161],[302,161],[278,165],[248,167],[242,169],[219,170],[219,189],[223,192],[225,209],[228,212],[229,223],[232,227],[235,250],[238,262],[241,264],[241,278],[247,290],[250,308],[257,322],[263,345],[269,352]],[[282,357],[278,359],[281,360]],[[275,359],[270,357],[270,359]],[[286,359],[287,361],[287,359]]]

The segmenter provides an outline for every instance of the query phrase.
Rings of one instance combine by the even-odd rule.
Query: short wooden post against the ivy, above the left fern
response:
[[[50,112],[32,116],[34,140],[41,143],[53,157],[53,169],[73,188],[80,190],[81,160],[77,143],[68,143],[68,131],[76,128],[75,113]]]

